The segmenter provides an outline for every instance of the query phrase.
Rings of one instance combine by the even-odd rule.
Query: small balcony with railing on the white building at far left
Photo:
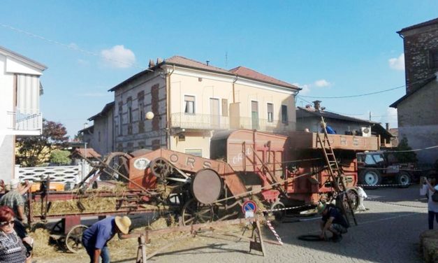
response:
[[[24,113],[25,112],[25,113]],[[8,111],[8,130],[13,135],[41,135],[43,115],[38,111]]]

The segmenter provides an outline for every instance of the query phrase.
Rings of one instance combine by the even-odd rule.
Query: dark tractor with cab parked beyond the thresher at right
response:
[[[415,163],[398,163],[390,152],[359,152],[359,183],[368,188],[384,183],[393,183],[404,188],[421,176]]]

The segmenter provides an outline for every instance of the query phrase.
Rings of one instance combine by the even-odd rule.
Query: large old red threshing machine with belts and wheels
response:
[[[41,215],[34,216],[30,211],[29,222],[35,218],[61,218],[61,232],[67,235],[66,243],[70,240],[69,249],[74,251],[80,246],[82,232],[68,234],[80,224],[81,216],[150,211],[143,204],[163,204],[166,211],[180,218],[182,225],[238,216],[243,201],[254,197],[270,209],[314,206],[320,200],[332,200],[342,189],[349,193],[352,204],[358,204],[354,190],[358,179],[356,152],[378,147],[377,137],[325,134],[321,139],[320,134],[308,132],[280,135],[238,129],[214,134],[211,159],[166,149],[112,152],[94,164],[74,194],[29,192],[29,203],[41,202]],[[330,161],[328,155],[333,155],[335,161]],[[342,171],[337,177],[333,176],[333,162]],[[50,201],[86,198],[87,187],[105,183],[98,180],[99,176],[119,177],[128,185],[129,190],[113,211],[48,215]],[[114,197],[111,192],[99,194]]]

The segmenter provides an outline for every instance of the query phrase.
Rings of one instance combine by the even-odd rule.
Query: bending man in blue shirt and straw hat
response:
[[[115,234],[128,234],[131,220],[127,216],[110,216],[95,222],[82,234],[82,245],[87,250],[91,263],[98,263],[99,257],[102,263],[110,262],[110,251],[107,243]]]

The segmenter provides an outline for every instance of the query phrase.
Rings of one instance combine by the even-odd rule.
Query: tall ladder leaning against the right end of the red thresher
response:
[[[332,145],[330,145],[330,140],[328,139],[326,122],[324,122],[324,118],[321,116],[321,124],[323,128],[323,138],[321,138],[319,132],[316,133],[316,145],[321,145],[321,149],[323,150],[324,159],[326,159],[326,164],[328,166],[328,174],[332,179],[332,187],[335,188],[335,192],[340,194],[340,192],[344,192],[346,202],[349,206],[349,211],[351,213],[351,217],[353,218],[354,224],[358,225],[356,221],[356,216],[354,215],[353,208],[351,206],[351,199],[349,195],[346,193],[346,186],[344,182],[344,173],[337,162],[335,152],[333,152]],[[344,211],[344,205],[342,204],[342,212],[344,213],[346,220],[349,218],[346,216],[346,211]]]

